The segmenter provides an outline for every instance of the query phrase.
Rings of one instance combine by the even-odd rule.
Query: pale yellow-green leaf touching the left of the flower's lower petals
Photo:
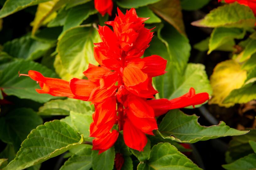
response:
[[[93,138],[90,136],[90,124],[93,122],[91,114],[75,113],[70,111],[71,122],[73,123],[76,131],[83,135],[89,141]]]

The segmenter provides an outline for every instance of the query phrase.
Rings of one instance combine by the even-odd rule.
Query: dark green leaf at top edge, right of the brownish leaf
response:
[[[203,8],[210,0],[181,0],[181,7],[184,10],[193,11]]]

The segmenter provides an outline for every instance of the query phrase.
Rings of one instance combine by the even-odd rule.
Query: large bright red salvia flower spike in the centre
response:
[[[207,93],[195,94],[193,88],[172,100],[153,99],[157,91],[152,86],[152,77],[165,73],[166,60],[158,55],[140,58],[153,37],[153,32],[144,27],[147,19],[138,17],[133,8],[125,15],[118,9],[115,20],[106,22],[114,31],[99,26],[102,42],[95,44],[94,57],[100,66],[90,64],[84,71],[88,80],[73,78],[67,82],[46,78],[36,71],[28,73],[39,82],[38,93],[67,96],[95,105],[90,136],[95,137],[93,149],[99,153],[113,146],[118,131],[123,131],[128,147],[141,151],[147,143],[145,134],[154,135],[152,131],[157,129],[155,117],[209,99]]]

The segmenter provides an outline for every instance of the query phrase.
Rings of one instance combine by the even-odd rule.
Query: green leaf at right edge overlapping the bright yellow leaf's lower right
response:
[[[256,84],[248,84],[242,88],[232,90],[223,103],[247,103],[255,99]]]

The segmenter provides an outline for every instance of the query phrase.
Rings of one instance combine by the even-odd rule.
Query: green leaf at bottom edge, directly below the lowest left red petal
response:
[[[93,170],[112,170],[114,167],[115,148],[111,147],[101,154],[98,153],[99,151],[97,150],[93,150],[91,153]]]

